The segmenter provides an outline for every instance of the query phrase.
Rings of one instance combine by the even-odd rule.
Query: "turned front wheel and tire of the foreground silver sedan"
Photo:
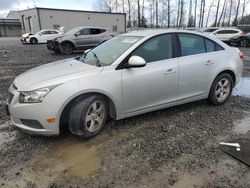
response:
[[[69,113],[69,130],[84,139],[92,138],[101,131],[107,116],[108,105],[103,97],[93,95],[78,99]]]

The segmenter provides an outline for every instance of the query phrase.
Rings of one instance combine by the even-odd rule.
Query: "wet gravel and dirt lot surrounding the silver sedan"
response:
[[[250,49],[241,50],[244,78],[225,105],[202,100],[110,121],[84,141],[15,129],[4,108],[14,77],[70,56],[0,38],[0,187],[250,187],[249,167],[218,144],[250,142]]]

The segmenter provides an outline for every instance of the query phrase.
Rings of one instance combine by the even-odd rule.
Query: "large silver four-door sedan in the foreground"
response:
[[[7,110],[26,132],[58,135],[63,125],[90,138],[119,120],[208,99],[225,103],[242,74],[242,53],[198,32],[135,31],[14,80]]]

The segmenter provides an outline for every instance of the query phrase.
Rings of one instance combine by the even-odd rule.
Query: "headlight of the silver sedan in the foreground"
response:
[[[34,91],[21,91],[19,95],[19,103],[40,103],[44,97],[56,86],[41,88]]]

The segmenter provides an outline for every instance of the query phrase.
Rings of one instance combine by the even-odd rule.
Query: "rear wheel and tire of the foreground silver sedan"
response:
[[[217,76],[211,86],[208,101],[215,105],[222,105],[230,98],[233,89],[233,79],[227,73]]]

